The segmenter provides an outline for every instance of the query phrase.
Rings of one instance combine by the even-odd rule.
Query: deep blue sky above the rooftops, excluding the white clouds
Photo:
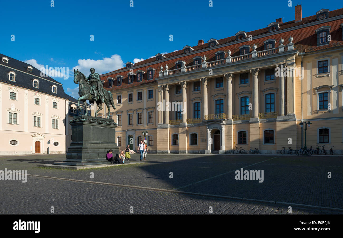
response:
[[[198,40],[221,39],[236,32],[266,27],[277,18],[294,20],[292,1],[2,1],[0,53],[26,61],[36,68],[77,67],[85,75],[121,68],[127,61],[147,59],[194,46]],[[318,10],[342,8],[340,1],[301,1],[302,16]],[[239,10],[242,9],[242,10]],[[173,41],[169,41],[169,35]],[[11,41],[14,35],[15,41]],[[94,41],[90,41],[94,35]],[[63,84],[66,93],[77,97],[71,74]]]

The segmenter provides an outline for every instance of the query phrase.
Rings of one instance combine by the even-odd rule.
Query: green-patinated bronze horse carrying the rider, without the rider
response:
[[[96,104],[98,105],[99,109],[95,111],[95,116],[97,117],[97,113],[103,109],[102,106],[102,101],[100,101],[99,98],[94,98],[93,94],[91,94],[91,84],[88,81],[88,79],[84,76],[83,73],[81,73],[78,69],[74,69],[74,83],[75,84],[79,84],[79,96],[80,98],[78,99],[78,108],[81,111],[82,107],[80,106],[80,101],[82,101],[85,105],[85,114],[87,115],[88,110],[87,110],[87,103],[86,100],[89,100],[90,103],[96,102]],[[112,93],[110,91],[106,91],[105,89],[103,89],[103,94],[105,95],[104,97],[104,103],[107,106],[108,109],[108,113],[107,113],[107,119],[109,118],[110,115],[110,104],[113,107],[113,109],[116,109],[114,102],[113,102],[113,96]]]

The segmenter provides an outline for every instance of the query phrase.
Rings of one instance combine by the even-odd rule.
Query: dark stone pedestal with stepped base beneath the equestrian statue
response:
[[[54,165],[106,165],[108,150],[113,150],[114,157],[119,154],[116,144],[117,124],[112,119],[93,116],[74,116],[70,121],[72,136],[67,158]]]

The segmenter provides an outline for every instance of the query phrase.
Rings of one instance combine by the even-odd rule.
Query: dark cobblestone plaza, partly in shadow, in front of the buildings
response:
[[[292,214],[343,214],[339,156],[148,154],[134,165],[77,171],[36,167],[64,158],[0,157],[0,170],[30,174],[26,183],[0,180],[0,214],[50,214],[51,206],[55,214],[132,214],[130,207],[133,214],[209,214],[210,206],[212,214],[287,214],[288,206]],[[139,161],[139,155],[131,160]],[[241,168],[263,170],[263,183],[236,180]]]

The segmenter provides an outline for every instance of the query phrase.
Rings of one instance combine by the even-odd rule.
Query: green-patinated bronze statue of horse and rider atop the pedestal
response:
[[[79,84],[79,96],[78,99],[78,107],[81,111],[82,107],[80,106],[80,101],[85,104],[85,114],[87,115],[87,103],[86,100],[94,105],[94,102],[98,105],[99,109],[95,111],[95,116],[97,117],[97,113],[103,109],[102,103],[105,103],[108,109],[107,118],[110,115],[110,104],[113,109],[116,109],[113,102],[113,96],[110,91],[106,91],[103,88],[103,84],[101,82],[100,76],[98,73],[95,73],[95,69],[91,68],[91,74],[86,78],[83,73],[81,73],[78,69],[74,69],[74,83]]]

